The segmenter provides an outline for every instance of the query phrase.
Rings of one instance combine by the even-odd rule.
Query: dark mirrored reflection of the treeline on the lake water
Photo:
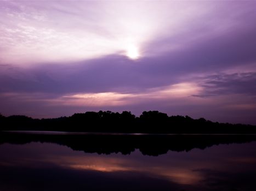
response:
[[[168,151],[190,151],[219,144],[241,144],[256,141],[256,135],[107,135],[107,134],[33,134],[0,132],[0,144],[48,142],[86,153],[142,154],[158,156]]]

